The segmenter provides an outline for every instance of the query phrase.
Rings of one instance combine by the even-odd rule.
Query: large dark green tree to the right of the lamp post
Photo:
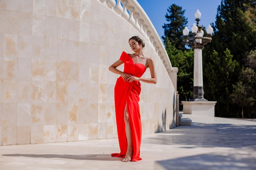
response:
[[[255,0],[222,0],[217,9],[216,22],[212,24],[212,42],[203,50],[204,97],[217,101],[216,116],[240,115],[238,110],[241,108],[232,102],[230,95],[234,90],[232,84],[239,82],[246,54],[256,46],[256,31],[247,22],[247,7],[243,5],[254,2]]]

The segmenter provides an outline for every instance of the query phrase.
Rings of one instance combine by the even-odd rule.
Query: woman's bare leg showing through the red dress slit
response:
[[[131,157],[132,157],[132,136],[131,136],[131,130],[130,130],[130,124],[129,124],[129,116],[127,113],[127,105],[124,108],[124,122],[125,122],[125,132],[126,132],[126,139],[127,139],[127,151],[123,161],[129,162],[131,161]]]

